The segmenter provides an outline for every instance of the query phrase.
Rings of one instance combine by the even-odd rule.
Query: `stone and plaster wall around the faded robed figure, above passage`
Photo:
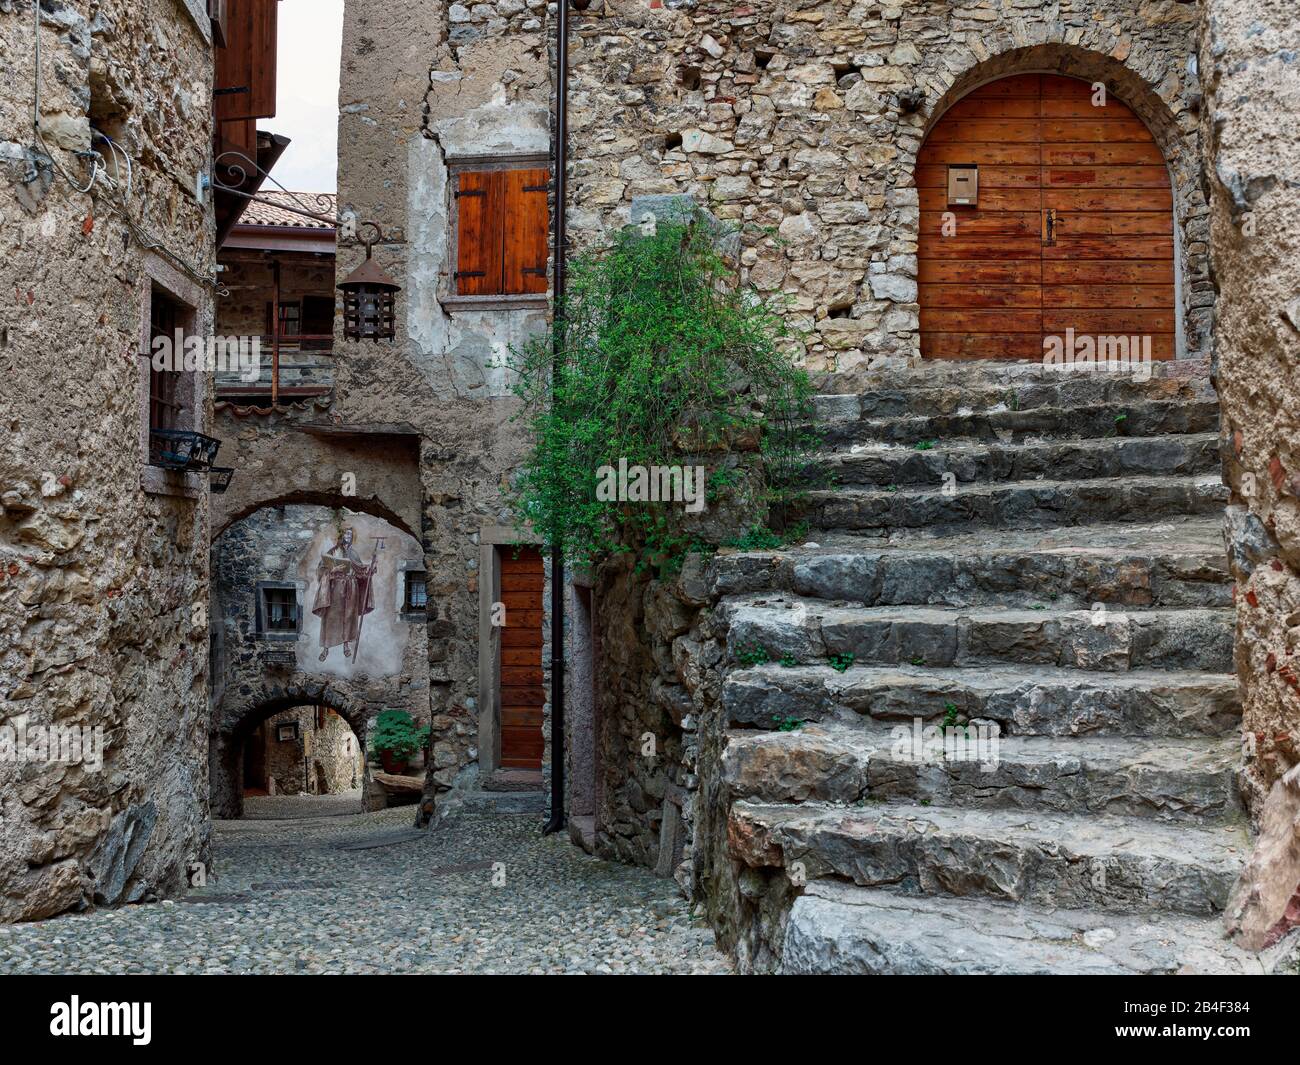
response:
[[[386,546],[378,555],[374,610],[365,615],[360,648],[352,645],[351,658],[342,648],[330,648],[321,662],[320,619],[312,614],[316,567],[338,523],[354,529],[365,562],[374,553],[374,537],[386,537]],[[381,518],[318,506],[264,507],[216,540],[212,623],[221,694],[211,739],[214,815],[239,815],[243,741],[255,726],[283,710],[326,706],[363,745],[380,710],[400,709],[429,722],[426,622],[402,610],[403,567],[419,568],[421,554],[413,537]],[[295,588],[302,612],[298,633],[259,628],[260,583]]]

